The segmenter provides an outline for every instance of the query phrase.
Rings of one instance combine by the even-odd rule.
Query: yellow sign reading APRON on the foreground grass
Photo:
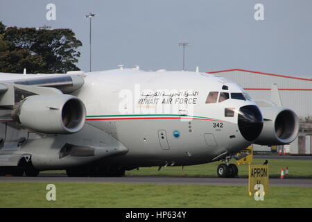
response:
[[[263,196],[268,191],[268,165],[249,165],[248,166],[248,193],[251,196],[257,191],[256,185],[263,186]]]

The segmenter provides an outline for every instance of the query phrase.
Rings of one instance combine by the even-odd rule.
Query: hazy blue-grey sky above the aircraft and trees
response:
[[[55,20],[46,19],[49,3]],[[248,69],[312,78],[311,8],[309,0],[0,0],[0,21],[71,28],[83,42],[77,64],[83,71],[89,71],[90,46],[85,15],[93,12],[92,71],[118,65],[182,70],[178,43],[189,42],[189,71]]]

